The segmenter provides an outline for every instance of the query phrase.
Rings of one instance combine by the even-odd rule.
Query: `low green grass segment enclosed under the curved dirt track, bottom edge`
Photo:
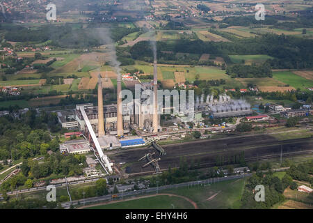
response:
[[[174,205],[176,209],[193,209],[193,205],[185,199],[166,195],[109,203],[86,209],[172,209],[172,205]]]

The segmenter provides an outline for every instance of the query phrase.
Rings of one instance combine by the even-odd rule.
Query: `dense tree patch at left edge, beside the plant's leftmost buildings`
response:
[[[54,113],[26,112],[22,119],[3,116],[0,118],[0,160],[29,158],[58,150],[58,138],[51,139],[51,132],[61,130]]]

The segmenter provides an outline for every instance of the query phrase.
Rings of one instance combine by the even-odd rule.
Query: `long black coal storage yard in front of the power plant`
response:
[[[158,158],[161,169],[170,167],[179,167],[180,157],[186,157],[187,162],[198,164],[200,167],[216,166],[216,158],[239,155],[244,151],[245,160],[264,160],[272,157],[287,157],[297,155],[298,153],[308,153],[313,151],[313,139],[291,139],[279,141],[268,135],[258,135],[251,137],[236,137],[193,141],[184,144],[172,144],[162,146],[166,151],[166,155],[159,155],[159,152],[152,146],[149,148],[134,148],[125,151],[119,151],[113,155],[109,155],[111,160],[116,164],[126,162],[125,169],[127,174],[140,173],[142,171],[153,171],[152,165],[142,169],[142,166],[147,163],[146,160],[138,161],[147,153],[155,153],[152,157]],[[225,163],[227,164],[227,163]]]

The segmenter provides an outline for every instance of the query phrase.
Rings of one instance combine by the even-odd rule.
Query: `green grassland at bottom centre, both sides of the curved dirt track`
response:
[[[194,201],[198,208],[203,209],[225,209],[225,208],[240,208],[241,195],[245,179],[228,180],[211,185],[196,185],[189,187],[179,187],[171,190],[162,190],[160,193],[177,194],[184,196]],[[175,204],[175,202],[178,202]],[[191,203],[179,197],[158,196],[136,199],[131,201],[122,201],[119,203],[109,203],[90,207],[90,209],[104,209],[104,208],[172,208],[170,203],[174,204],[175,208],[193,208]]]

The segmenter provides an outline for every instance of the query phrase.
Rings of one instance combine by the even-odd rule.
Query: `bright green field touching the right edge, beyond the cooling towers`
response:
[[[295,75],[290,71],[273,72],[273,79],[277,79],[280,82],[284,82],[293,86],[295,89],[305,90],[307,87],[313,87],[313,82]]]

